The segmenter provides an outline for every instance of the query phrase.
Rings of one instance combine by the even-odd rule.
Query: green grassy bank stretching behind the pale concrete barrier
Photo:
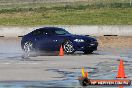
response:
[[[26,3],[0,7],[0,25],[7,26],[132,24],[132,6],[128,2]]]

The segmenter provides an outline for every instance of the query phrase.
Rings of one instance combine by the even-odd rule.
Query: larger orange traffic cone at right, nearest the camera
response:
[[[116,78],[127,78],[125,76],[123,60],[120,60],[120,64],[119,64],[119,68],[118,68],[118,74],[117,74]]]

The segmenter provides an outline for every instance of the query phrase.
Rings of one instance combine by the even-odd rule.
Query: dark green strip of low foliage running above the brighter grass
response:
[[[0,13],[12,13],[12,12],[42,12],[42,11],[66,11],[66,10],[86,10],[86,9],[98,9],[98,8],[132,8],[129,3],[96,3],[96,4],[87,4],[87,5],[63,5],[63,6],[51,6],[51,7],[19,7],[19,8],[10,8],[10,9],[1,9]]]

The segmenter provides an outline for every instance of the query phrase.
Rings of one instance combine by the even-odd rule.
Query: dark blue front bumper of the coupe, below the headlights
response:
[[[91,42],[91,43],[87,43],[87,42],[82,42],[82,43],[74,43],[74,48],[76,51],[85,51],[85,50],[92,50],[95,51],[97,50],[98,47],[98,42]]]

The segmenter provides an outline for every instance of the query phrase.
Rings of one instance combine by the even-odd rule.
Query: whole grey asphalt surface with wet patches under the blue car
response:
[[[116,79],[119,59],[124,60],[125,72],[132,79],[132,48],[99,48],[93,54],[76,52],[63,57],[52,52],[23,58],[20,40],[0,39],[0,88],[80,87],[77,79],[82,67],[89,78]]]

